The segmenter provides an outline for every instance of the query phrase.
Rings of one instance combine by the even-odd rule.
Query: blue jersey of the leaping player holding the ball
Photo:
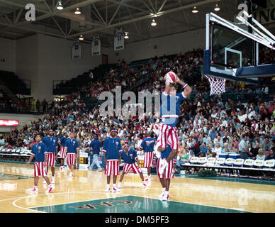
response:
[[[177,118],[179,118],[179,107],[181,101],[186,99],[183,92],[176,93],[176,96],[170,96],[162,92],[162,106],[160,106],[160,116],[162,123],[167,126],[175,127]]]

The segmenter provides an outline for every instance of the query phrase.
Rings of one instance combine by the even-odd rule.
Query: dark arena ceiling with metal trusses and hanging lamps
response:
[[[205,28],[206,13],[215,12],[217,3],[216,13],[232,21],[238,0],[62,0],[62,10],[58,0],[0,0],[0,37],[17,40],[43,33],[76,40],[84,35],[89,42],[98,34],[102,45],[111,47],[116,28],[129,33],[125,43]],[[35,21],[26,21],[26,4],[35,5]],[[193,6],[198,13],[191,12]],[[82,14],[74,14],[77,7]],[[152,18],[157,26],[151,26]]]

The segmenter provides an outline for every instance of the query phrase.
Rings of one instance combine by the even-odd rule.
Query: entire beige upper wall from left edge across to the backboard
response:
[[[169,44],[169,45],[168,45]],[[20,40],[0,39],[0,58],[2,53],[9,59],[0,70],[13,71],[21,79],[30,79],[32,83],[31,96],[35,99],[50,99],[52,81],[65,80],[101,65],[102,56],[91,57],[91,45],[82,43],[82,59],[71,59],[72,40],[54,38],[49,35],[36,34]],[[157,45],[157,49],[154,46]],[[116,63],[124,59],[130,63],[133,60],[184,53],[193,48],[205,47],[205,29],[152,38],[135,43],[125,41],[125,50],[114,51],[111,48],[101,48],[108,55],[108,63]],[[1,49],[0,49],[1,50]]]

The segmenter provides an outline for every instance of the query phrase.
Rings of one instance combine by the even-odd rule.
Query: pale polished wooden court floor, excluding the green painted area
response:
[[[55,181],[55,189],[50,194],[45,194],[42,178],[38,182],[38,194],[28,194],[28,189],[33,188],[33,165],[0,162],[0,212],[38,212],[30,208],[123,195],[158,199],[161,192],[156,175],[147,188],[142,187],[138,175],[126,175],[118,194],[104,192],[106,176],[103,172],[74,170],[74,177],[70,178],[67,170],[60,171],[56,167]],[[275,212],[275,185],[175,177],[170,187],[170,201],[270,213]]]

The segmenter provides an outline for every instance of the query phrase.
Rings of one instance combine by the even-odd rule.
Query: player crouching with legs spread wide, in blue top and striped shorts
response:
[[[122,159],[124,160],[125,164],[123,166],[122,175],[120,176],[120,180],[118,182],[118,188],[119,189],[121,188],[121,182],[123,181],[124,175],[126,175],[131,169],[133,170],[134,174],[139,173],[140,178],[142,180],[142,185],[147,186],[147,184],[144,180],[142,171],[141,171],[140,167],[138,167],[138,164],[136,162],[137,157],[138,157],[137,152],[133,148],[129,149],[128,143],[125,143],[124,150],[121,152],[120,155],[121,155]]]

